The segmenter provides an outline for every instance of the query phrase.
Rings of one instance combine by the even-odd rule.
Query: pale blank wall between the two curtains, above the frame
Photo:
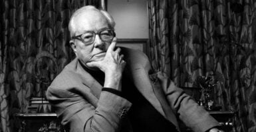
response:
[[[147,0],[108,0],[117,38],[148,38]]]

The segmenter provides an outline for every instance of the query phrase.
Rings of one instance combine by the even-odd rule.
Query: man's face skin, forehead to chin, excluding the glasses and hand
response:
[[[73,36],[84,34],[84,32],[99,32],[110,29],[108,20],[97,11],[80,13],[74,17]],[[70,31],[72,32],[72,31]],[[103,42],[100,36],[96,35],[92,44],[84,44],[81,40],[72,39],[70,44],[78,59],[86,66],[90,61],[100,61],[104,59],[106,50],[111,42]]]

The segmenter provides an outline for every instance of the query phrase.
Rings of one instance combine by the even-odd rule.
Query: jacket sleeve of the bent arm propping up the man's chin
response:
[[[47,90],[47,99],[61,123],[71,132],[118,131],[122,117],[132,105],[125,98],[107,91],[101,92],[96,106],[86,100],[89,96],[81,95],[77,91],[53,86]]]

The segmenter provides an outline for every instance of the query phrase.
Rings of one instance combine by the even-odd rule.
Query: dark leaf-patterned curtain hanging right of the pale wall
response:
[[[256,131],[256,2],[148,0],[150,60],[178,86],[199,76],[219,81],[223,110],[237,110],[235,131]]]

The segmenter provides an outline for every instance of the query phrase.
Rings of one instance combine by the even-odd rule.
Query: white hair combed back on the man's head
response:
[[[103,16],[106,17],[106,20],[108,20],[108,24],[109,26],[114,29],[114,26],[116,25],[116,22],[114,22],[114,18],[112,18],[112,16],[104,11],[104,10],[101,10],[101,9],[96,9],[94,6],[92,5],[86,5],[84,7],[81,7],[80,9],[76,10],[73,15],[70,17],[70,20],[69,20],[69,23],[68,23],[68,30],[70,31],[70,36],[72,37],[73,35],[73,30],[74,30],[74,17],[77,16],[78,14],[82,13],[82,11],[98,11],[100,12]]]

